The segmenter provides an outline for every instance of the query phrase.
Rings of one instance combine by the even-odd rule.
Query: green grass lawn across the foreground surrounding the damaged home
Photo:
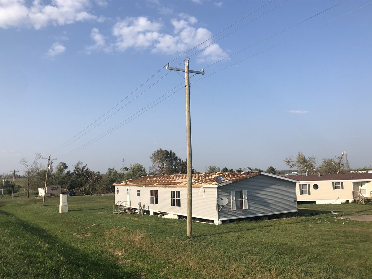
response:
[[[189,239],[185,220],[116,215],[113,203],[113,195],[69,197],[60,214],[59,198],[44,208],[35,197],[1,199],[0,278],[372,278],[372,223],[330,214],[371,215],[371,204],[194,222]]]

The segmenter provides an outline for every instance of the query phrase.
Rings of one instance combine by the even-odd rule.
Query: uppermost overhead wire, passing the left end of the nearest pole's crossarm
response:
[[[225,30],[227,30],[227,29],[230,28],[231,26],[234,26],[235,24],[237,24],[237,23],[240,22],[241,20],[246,19],[248,16],[252,15],[253,13],[255,13],[255,12],[257,12],[257,11],[259,11],[260,9],[262,9],[263,7],[265,7],[265,6],[267,6],[268,4],[272,3],[273,1],[274,1],[274,0],[269,1],[268,3],[264,4],[263,6],[261,6],[259,9],[256,9],[254,12],[251,12],[250,14],[248,14],[248,15],[242,17],[242,18],[241,18],[240,20],[238,20],[237,22],[232,23],[232,24],[229,25],[228,27],[224,28],[222,31],[220,31],[220,32],[218,32],[217,34],[211,36],[210,38],[208,38],[208,39],[205,40],[204,42],[200,43],[199,45],[193,47],[192,49],[190,49],[190,50],[187,51],[187,52],[190,52],[190,51],[192,51],[193,49],[199,47],[200,45],[202,45],[202,44],[205,43],[206,41],[208,41],[208,40],[214,38],[215,36],[217,36],[218,34],[224,32]],[[284,2],[284,3],[285,3],[285,2]],[[279,5],[279,6],[280,6],[280,5]],[[266,14],[266,13],[265,13],[265,14]],[[246,25],[247,25],[247,24],[246,24]],[[244,25],[244,26],[245,26],[245,25]],[[235,31],[234,31],[234,32],[235,32]],[[229,35],[230,35],[230,34],[229,34]],[[225,37],[226,37],[226,36],[225,36]],[[225,38],[225,37],[224,37],[224,38]],[[182,57],[183,55],[187,54],[187,52],[181,54],[179,57],[177,57],[177,58],[171,60],[170,62],[173,62],[173,61],[177,60],[178,58],[180,58],[180,57]],[[181,62],[181,63],[182,63],[182,62]],[[180,64],[181,64],[181,63],[180,63]],[[178,64],[178,65],[180,65],[180,64]],[[165,65],[164,65],[164,66],[165,66]],[[145,83],[147,83],[147,81],[149,81],[149,80],[150,80],[151,78],[153,78],[157,73],[159,73],[159,72],[164,68],[164,66],[162,66],[162,67],[161,67],[161,68],[160,68],[160,69],[159,69],[155,74],[153,74],[150,78],[148,78],[144,83],[142,83],[139,87],[137,87],[137,88],[136,88],[134,91],[132,91],[130,94],[128,94],[128,95],[127,95],[124,99],[122,99],[119,103],[117,103],[115,106],[113,106],[111,109],[109,109],[106,113],[104,113],[102,116],[100,116],[98,119],[96,119],[96,121],[94,121],[92,124],[90,124],[89,126],[87,126],[86,128],[84,128],[82,131],[80,131],[80,132],[78,132],[76,135],[74,135],[74,137],[70,138],[68,141],[64,142],[63,144],[61,144],[60,146],[58,146],[58,147],[55,148],[54,150],[48,152],[47,154],[50,154],[50,153],[55,152],[55,151],[59,151],[59,150],[65,148],[65,147],[67,147],[68,145],[70,145],[72,142],[76,141],[78,138],[81,138],[83,135],[87,134],[87,132],[86,132],[85,134],[83,134],[83,135],[81,135],[80,137],[76,138],[78,135],[80,135],[82,132],[84,132],[86,129],[88,129],[90,126],[92,126],[94,123],[96,123],[97,121],[99,121],[99,119],[101,119],[103,116],[105,116],[106,114],[108,114],[111,110],[113,110],[114,108],[116,108],[116,106],[118,106],[118,105],[119,105],[120,103],[122,103],[125,99],[127,99],[129,96],[131,96],[134,92],[136,92],[138,89],[140,89],[140,88],[141,88]],[[177,66],[177,67],[178,67],[178,66]],[[163,76],[163,77],[164,77],[164,76]],[[159,81],[159,80],[158,80],[158,81]],[[155,83],[156,83],[156,82],[155,82]],[[154,83],[154,84],[155,84],[155,83]],[[154,84],[153,84],[153,85],[154,85]],[[153,85],[152,85],[152,86],[153,86]],[[151,86],[150,86],[150,87],[151,87]],[[150,88],[150,87],[149,87],[149,88]],[[148,89],[149,89],[149,88],[148,88]],[[144,92],[142,92],[142,93],[144,93]],[[120,110],[120,109],[119,109],[119,110]],[[118,111],[116,111],[116,112],[118,112]],[[115,113],[116,113],[116,112],[115,112]],[[113,114],[115,114],[115,113],[113,113]],[[113,115],[113,114],[112,114],[112,115]],[[110,115],[110,116],[112,116],[112,115]],[[110,118],[110,116],[109,116],[108,118]],[[106,118],[104,121],[106,121],[108,118]],[[102,121],[102,122],[104,122],[104,121]],[[100,122],[99,124],[101,124],[102,122]],[[98,124],[98,125],[99,125],[99,124]],[[92,129],[96,128],[98,125],[94,126]],[[92,131],[92,129],[90,129],[89,131]],[[88,131],[88,132],[89,132],[89,131]],[[70,141],[73,140],[74,138],[76,138],[76,139],[75,139],[74,141],[70,142]],[[70,143],[67,144],[68,142],[70,142]]]

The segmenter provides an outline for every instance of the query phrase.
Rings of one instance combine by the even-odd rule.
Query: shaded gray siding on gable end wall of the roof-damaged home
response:
[[[296,183],[260,174],[218,188],[228,199],[218,219],[233,219],[297,211]],[[231,210],[231,191],[247,190],[248,209]]]

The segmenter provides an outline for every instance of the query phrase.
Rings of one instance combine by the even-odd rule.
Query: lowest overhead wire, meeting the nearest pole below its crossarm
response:
[[[341,2],[341,3],[343,3],[343,2]],[[341,4],[341,3],[339,3],[339,4]],[[227,67],[224,67],[224,68],[222,68],[222,69],[220,69],[220,70],[218,70],[218,71],[215,71],[214,73],[209,74],[208,76],[205,76],[205,77],[199,78],[198,80],[193,81],[193,82],[191,82],[190,84],[195,83],[195,82],[197,82],[197,81],[200,81],[200,80],[202,80],[202,79],[204,79],[204,78],[206,78],[206,77],[210,77],[210,76],[212,76],[213,74],[216,74],[216,73],[218,73],[218,72],[220,72],[220,71],[222,71],[222,70],[225,70],[225,69],[227,69],[227,68],[229,68],[229,67],[232,67],[233,65],[236,65],[236,64],[238,64],[238,63],[240,63],[240,62],[243,62],[243,61],[245,61],[245,60],[247,60],[247,59],[250,59],[250,58],[252,58],[252,57],[254,57],[254,56],[256,56],[256,55],[259,55],[259,54],[261,54],[261,53],[263,53],[263,52],[266,52],[266,51],[268,51],[268,50],[270,50],[270,49],[272,49],[272,48],[278,47],[279,45],[285,44],[286,42],[289,42],[289,41],[291,41],[291,40],[293,40],[293,39],[295,39],[295,38],[298,38],[299,36],[302,36],[302,35],[304,35],[304,34],[306,34],[306,33],[308,33],[308,32],[311,32],[311,31],[313,31],[313,30],[315,30],[315,29],[317,29],[317,28],[320,28],[321,26],[324,26],[324,25],[326,25],[326,24],[328,24],[328,23],[330,23],[330,22],[333,22],[334,20],[340,19],[340,18],[343,17],[343,16],[349,15],[350,13],[353,13],[353,12],[355,12],[356,10],[362,9],[363,7],[366,7],[366,6],[370,5],[370,4],[372,4],[372,2],[370,2],[370,3],[368,3],[368,4],[365,4],[365,5],[363,5],[363,6],[360,6],[360,7],[356,8],[356,9],[350,11],[350,12],[344,13],[343,15],[340,15],[340,16],[334,18],[334,19],[328,20],[327,22],[322,23],[321,25],[318,25],[318,26],[316,26],[316,27],[314,27],[314,28],[312,28],[312,29],[309,29],[308,31],[305,31],[305,32],[303,32],[303,33],[301,33],[301,34],[299,34],[299,35],[296,35],[296,36],[294,36],[294,37],[292,37],[292,38],[290,38],[290,39],[287,39],[286,41],[280,42],[279,44],[276,44],[276,45],[274,45],[274,46],[272,46],[272,47],[270,47],[270,48],[267,48],[267,49],[264,49],[263,51],[257,52],[256,54],[251,55],[250,57],[244,58],[243,60],[240,60],[240,61],[238,61],[238,62],[235,62],[234,64],[231,64],[231,65],[229,65],[229,66],[227,66]],[[335,6],[337,6],[337,5],[335,5]],[[331,8],[332,8],[332,7],[331,7]],[[331,9],[331,8],[328,8],[327,10],[329,10],[329,9]],[[325,11],[323,11],[323,12],[325,12]],[[320,13],[319,13],[319,14],[320,14]],[[312,16],[312,17],[314,17],[314,16]],[[309,19],[310,19],[310,18],[309,18]],[[305,20],[304,20],[304,21],[305,21]],[[298,24],[299,24],[299,23],[298,23]],[[298,25],[298,24],[296,24],[296,25]],[[292,26],[292,27],[293,27],[293,26]],[[292,28],[292,27],[291,27],[291,28]],[[285,29],[285,30],[288,30],[288,29]],[[283,31],[281,31],[281,32],[283,32]],[[280,32],[280,33],[281,33],[281,32]],[[215,63],[213,63],[213,64],[215,64]],[[211,65],[212,65],[212,64],[211,64]],[[209,65],[209,66],[210,66],[210,65]],[[209,67],[209,66],[207,66],[207,67]],[[181,85],[181,84],[182,84],[182,83],[180,83],[179,85]],[[177,86],[179,86],[179,85],[177,85]],[[176,87],[177,87],[177,86],[176,86]],[[171,92],[172,90],[174,90],[176,87],[174,87],[173,89],[171,89],[171,90],[170,90],[169,92],[167,92],[166,94],[170,93],[170,92]],[[182,88],[183,88],[183,87],[180,87],[179,89],[177,89],[175,92],[173,92],[172,94],[170,94],[169,96],[167,96],[167,97],[164,98],[163,100],[165,100],[165,99],[167,99],[168,97],[172,96],[173,94],[175,94],[176,92],[178,92],[178,91],[181,90]],[[166,94],[163,94],[163,96],[159,97],[157,100],[161,99],[161,98],[164,97]],[[157,100],[155,100],[154,102],[152,102],[151,104],[149,104],[149,105],[146,106],[145,108],[148,108],[149,106],[151,106],[152,104],[154,104]],[[158,103],[163,102],[163,100],[160,100]],[[125,125],[126,123],[128,123],[128,122],[132,121],[133,119],[137,118],[137,117],[140,116],[142,113],[144,113],[144,112],[148,111],[149,109],[153,108],[153,107],[156,106],[158,103],[155,103],[153,106],[151,106],[150,108],[148,108],[148,109],[146,109],[146,110],[144,110],[145,108],[141,109],[140,111],[138,111],[138,112],[135,113],[134,115],[130,116],[129,118],[127,118],[127,119],[124,120],[123,122],[119,123],[118,125],[114,126],[114,127],[111,128],[110,130],[108,130],[108,131],[106,131],[105,133],[99,135],[98,137],[94,138],[93,140],[87,142],[86,144],[81,145],[80,147],[75,148],[74,150],[72,150],[72,151],[70,151],[70,152],[68,152],[68,153],[63,154],[61,157],[62,157],[62,158],[67,157],[67,156],[69,156],[69,155],[71,155],[71,154],[73,154],[73,153],[75,153],[75,152],[77,152],[77,151],[79,151],[79,150],[81,150],[81,149],[87,147],[88,145],[92,144],[93,142],[95,142],[95,141],[97,141],[97,140],[100,140],[101,138],[105,137],[106,135],[110,134],[111,132],[115,131],[116,129],[122,127],[122,126]],[[144,110],[144,111],[141,112],[142,110]],[[141,113],[138,114],[139,112],[141,112]],[[138,114],[138,115],[137,115],[137,114]],[[137,116],[135,116],[135,115],[137,115]],[[133,117],[133,116],[135,116],[135,117]],[[133,117],[133,118],[132,118],[132,117]],[[132,119],[130,119],[130,118],[132,118]],[[128,119],[130,119],[130,120],[128,120]],[[128,121],[127,121],[127,120],[128,120]],[[127,122],[125,122],[125,121],[127,121]]]

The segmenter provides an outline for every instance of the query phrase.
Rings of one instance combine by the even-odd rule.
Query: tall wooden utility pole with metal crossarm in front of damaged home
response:
[[[191,116],[190,116],[190,76],[189,73],[204,74],[202,71],[189,70],[190,57],[185,61],[185,70],[169,67],[167,70],[185,72],[186,87],[186,142],[187,142],[187,237],[192,237],[192,155],[191,155]]]

